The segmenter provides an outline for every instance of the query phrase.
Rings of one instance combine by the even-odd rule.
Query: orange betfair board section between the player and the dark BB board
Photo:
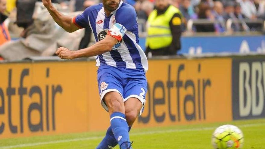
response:
[[[147,104],[136,126],[232,120],[231,59],[150,60]]]

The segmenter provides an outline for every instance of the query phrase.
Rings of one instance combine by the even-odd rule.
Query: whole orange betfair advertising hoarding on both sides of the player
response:
[[[149,60],[134,127],[232,120],[230,58]],[[0,139],[104,130],[94,61],[0,64]]]

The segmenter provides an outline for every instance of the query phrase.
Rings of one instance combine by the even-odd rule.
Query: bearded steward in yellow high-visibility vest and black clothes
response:
[[[155,0],[155,9],[147,20],[147,56],[176,55],[181,48],[182,14],[169,0]],[[148,54],[149,53],[149,54]]]

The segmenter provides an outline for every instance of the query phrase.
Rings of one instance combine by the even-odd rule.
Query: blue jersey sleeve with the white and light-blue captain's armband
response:
[[[128,5],[117,11],[115,18],[116,23],[111,27],[108,35],[117,40],[121,41],[126,31],[131,31],[135,28],[137,29],[137,15],[132,6]]]

